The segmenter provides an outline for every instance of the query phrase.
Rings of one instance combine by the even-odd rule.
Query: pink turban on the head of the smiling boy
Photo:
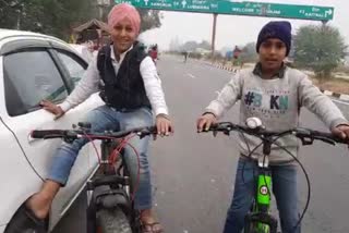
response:
[[[131,21],[132,28],[136,32],[136,34],[139,34],[141,27],[141,16],[137,10],[133,5],[128,3],[120,3],[111,9],[108,15],[109,27],[113,28],[120,21],[125,17]]]

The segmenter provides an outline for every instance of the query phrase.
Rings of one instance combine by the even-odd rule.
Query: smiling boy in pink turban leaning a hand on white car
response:
[[[155,124],[159,135],[173,132],[168,108],[156,66],[144,47],[136,41],[141,17],[136,9],[128,3],[115,5],[108,15],[111,44],[103,47],[89,63],[84,76],[64,100],[57,106],[48,100],[41,107],[56,119],[79,106],[92,94],[100,90],[105,105],[92,110],[86,121],[93,132],[129,130]],[[99,84],[104,86],[99,89]],[[41,189],[26,201],[26,213],[36,222],[47,218],[50,206],[61,186],[68,182],[80,149],[88,142],[84,138],[72,144],[62,144],[57,150],[48,176]],[[141,212],[141,222],[146,233],[163,232],[156,221],[152,203],[152,184],[148,164],[149,137],[133,137],[130,142],[140,155],[140,179],[137,158],[131,147],[125,147],[125,160],[132,182],[137,183],[134,206]],[[43,224],[45,225],[45,224]],[[38,226],[39,228],[39,226]]]

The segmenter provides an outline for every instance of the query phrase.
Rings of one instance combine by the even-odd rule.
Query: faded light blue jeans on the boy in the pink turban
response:
[[[88,112],[86,121],[92,124],[92,132],[124,131],[133,127],[151,126],[154,124],[151,109],[141,108],[134,111],[120,112],[107,106],[98,107]],[[72,144],[63,143],[53,157],[52,167],[48,180],[65,185],[70,171],[76,160],[80,149],[88,143],[80,138]],[[148,163],[149,136],[140,139],[133,137],[130,144],[140,155],[140,183],[134,199],[135,208],[139,210],[152,208],[152,183]],[[134,150],[127,146],[124,148],[125,161],[130,169],[132,182],[136,182],[137,158]]]

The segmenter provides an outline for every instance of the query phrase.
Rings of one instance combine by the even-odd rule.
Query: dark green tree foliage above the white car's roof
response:
[[[94,16],[94,0],[0,0],[0,27],[67,39],[72,25]]]

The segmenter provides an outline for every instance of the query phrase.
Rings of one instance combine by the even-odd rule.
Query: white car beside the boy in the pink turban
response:
[[[13,216],[38,192],[47,176],[60,139],[33,139],[33,130],[71,128],[92,109],[103,105],[98,94],[53,121],[40,100],[62,102],[74,89],[87,63],[64,41],[20,30],[0,29],[0,233]],[[81,151],[69,182],[56,197],[49,230],[57,224],[97,168],[92,146]]]

